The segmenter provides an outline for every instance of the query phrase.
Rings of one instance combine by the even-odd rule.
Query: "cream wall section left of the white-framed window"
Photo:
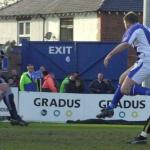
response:
[[[6,41],[17,41],[17,21],[16,20],[1,20],[0,21],[0,44]]]

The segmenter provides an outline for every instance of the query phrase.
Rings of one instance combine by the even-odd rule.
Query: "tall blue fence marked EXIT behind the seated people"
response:
[[[59,41],[22,41],[22,72],[27,64],[35,69],[44,65],[62,81],[71,72],[79,72],[86,90],[89,83],[102,72],[105,78],[116,85],[120,74],[127,68],[127,51],[116,55],[108,68],[103,65],[104,57],[117,45],[114,42],[59,42]]]

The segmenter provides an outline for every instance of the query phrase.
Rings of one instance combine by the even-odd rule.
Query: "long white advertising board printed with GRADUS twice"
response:
[[[111,94],[20,92],[19,113],[28,121],[66,122],[96,119]],[[150,114],[149,96],[124,96],[111,120],[144,121]]]

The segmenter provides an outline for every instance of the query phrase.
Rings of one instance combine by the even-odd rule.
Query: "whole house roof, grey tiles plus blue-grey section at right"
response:
[[[67,12],[137,11],[143,0],[20,0],[0,10],[0,16],[57,14]]]

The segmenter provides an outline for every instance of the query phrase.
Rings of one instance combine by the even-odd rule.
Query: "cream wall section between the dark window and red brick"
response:
[[[99,41],[100,19],[97,14],[76,16],[74,18],[74,41]]]

